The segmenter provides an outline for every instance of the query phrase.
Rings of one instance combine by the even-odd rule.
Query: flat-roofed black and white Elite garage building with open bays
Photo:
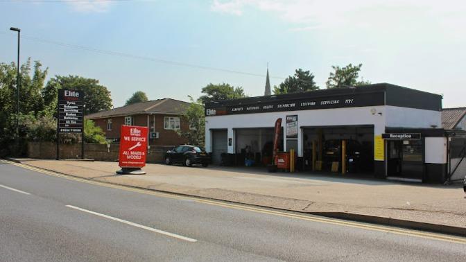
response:
[[[294,149],[301,170],[442,182],[441,110],[442,96],[387,83],[216,101],[206,105],[205,147],[214,164],[270,164],[281,118],[279,150]]]

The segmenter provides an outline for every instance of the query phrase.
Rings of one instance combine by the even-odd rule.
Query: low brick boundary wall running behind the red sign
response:
[[[85,143],[85,158],[94,159],[96,161],[118,161],[119,144],[112,143],[110,148],[106,144]],[[171,146],[150,146],[147,154],[147,163],[162,163],[164,154]],[[29,142],[28,157],[37,159],[55,159],[57,154],[56,143],[51,142]],[[61,144],[60,159],[73,159],[81,157],[81,145],[76,144]]]

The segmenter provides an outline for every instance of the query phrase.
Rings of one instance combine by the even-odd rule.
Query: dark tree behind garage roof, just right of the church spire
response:
[[[296,69],[294,76],[288,76],[278,87],[273,87],[274,94],[289,94],[302,91],[318,90],[314,75],[309,71]]]

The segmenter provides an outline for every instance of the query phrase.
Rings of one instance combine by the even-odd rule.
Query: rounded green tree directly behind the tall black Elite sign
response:
[[[47,82],[44,98],[49,105],[56,107],[58,89],[76,89],[84,91],[85,114],[92,114],[112,108],[112,98],[107,87],[99,85],[98,80],[82,76],[55,76]]]

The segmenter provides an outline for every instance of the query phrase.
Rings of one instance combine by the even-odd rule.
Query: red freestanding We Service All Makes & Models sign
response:
[[[143,126],[121,125],[120,162],[123,167],[146,166],[147,128]]]

